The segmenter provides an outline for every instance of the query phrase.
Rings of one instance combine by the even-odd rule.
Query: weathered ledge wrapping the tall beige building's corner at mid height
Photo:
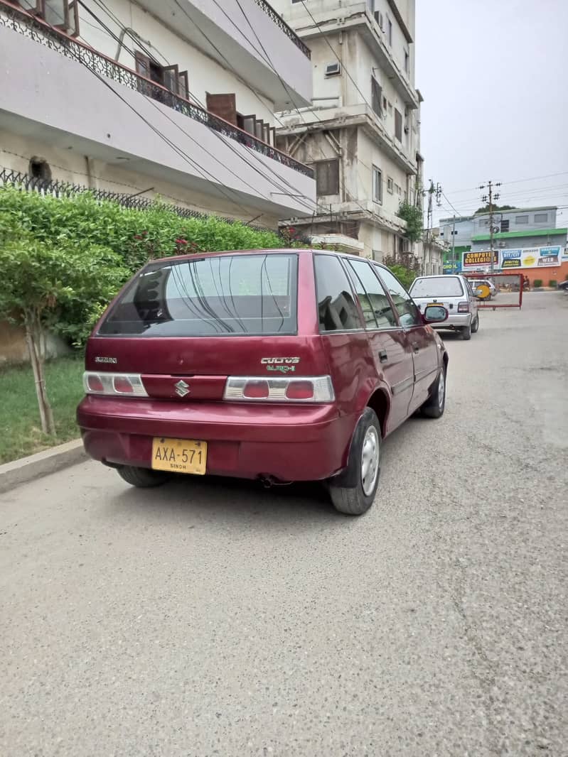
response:
[[[317,117],[311,114],[314,112]],[[304,120],[305,119],[305,120]],[[416,153],[410,155],[401,142],[389,134],[373,108],[366,103],[337,107],[311,108],[302,114],[283,114],[280,117],[282,127],[276,130],[276,136],[291,136],[302,132],[325,131],[326,129],[345,129],[348,126],[358,126],[364,129],[367,136],[377,142],[405,173],[416,174]]]

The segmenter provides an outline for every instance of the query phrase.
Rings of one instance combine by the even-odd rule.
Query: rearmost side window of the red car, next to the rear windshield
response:
[[[320,331],[362,329],[351,284],[339,257],[314,255],[314,270]]]

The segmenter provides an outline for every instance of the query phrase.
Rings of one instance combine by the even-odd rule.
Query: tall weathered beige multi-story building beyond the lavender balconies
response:
[[[273,0],[311,49],[314,101],[290,93],[276,144],[314,167],[317,210],[290,219],[342,233],[382,260],[409,248],[404,200],[421,201],[420,92],[414,87],[414,0]]]

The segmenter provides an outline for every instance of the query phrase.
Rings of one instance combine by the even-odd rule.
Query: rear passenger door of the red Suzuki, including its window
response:
[[[345,264],[363,311],[376,374],[392,392],[386,429],[390,432],[407,418],[412,400],[414,360],[410,343],[373,266],[354,258],[346,258]]]

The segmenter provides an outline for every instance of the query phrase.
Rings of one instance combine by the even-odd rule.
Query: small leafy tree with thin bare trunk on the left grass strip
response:
[[[92,327],[104,304],[129,276],[120,257],[95,246],[50,245],[17,223],[13,214],[0,215],[0,318],[23,326],[36,382],[42,431],[55,435],[55,423],[45,386],[45,334],[56,325],[63,307],[83,307]],[[88,319],[87,319],[88,320]]]

